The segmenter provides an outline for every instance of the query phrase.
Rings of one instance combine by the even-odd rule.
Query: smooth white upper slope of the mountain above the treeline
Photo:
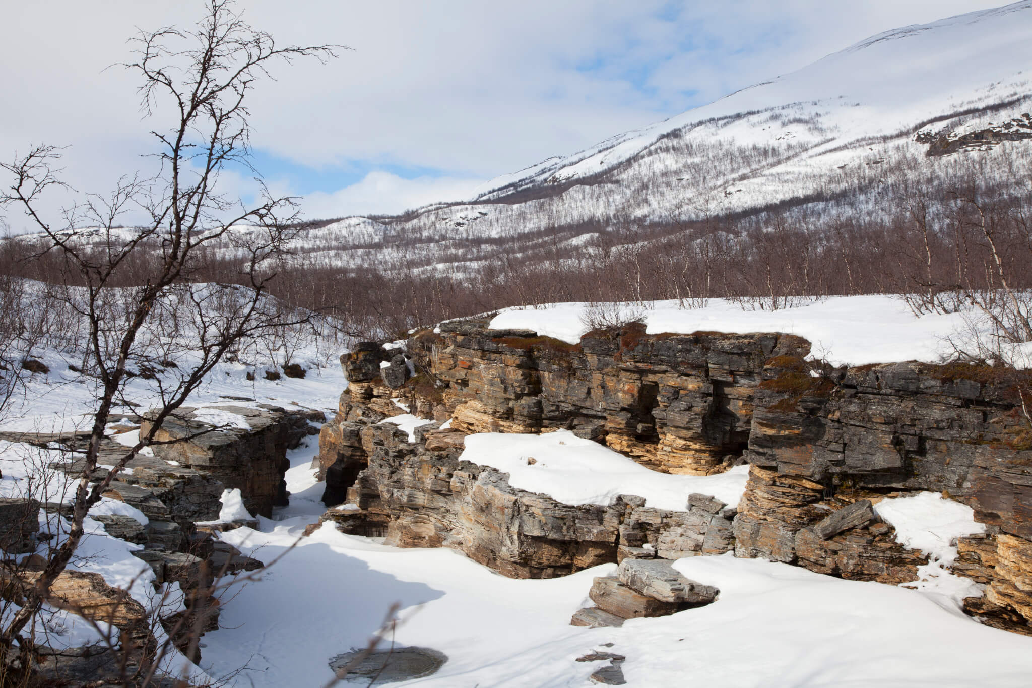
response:
[[[974,110],[968,117],[980,119],[993,112],[990,117],[997,119],[1020,113],[1022,107],[1028,108],[1030,67],[1032,2],[1028,0],[904,27],[666,122],[497,177],[478,199],[504,199],[542,185],[642,171],[657,176],[664,171],[690,174],[692,167],[710,162],[709,156],[690,155],[697,143],[759,146],[767,154],[766,164],[751,169],[728,166],[709,187],[719,186],[713,182],[837,170],[857,158],[841,155],[843,149],[859,149],[872,139],[902,138],[936,122],[956,125],[954,121],[964,119],[960,113],[965,111]],[[665,150],[664,138],[679,142]],[[663,164],[653,170],[637,169],[650,157],[662,158]],[[628,163],[631,169],[620,169]],[[774,181],[782,179],[768,179]],[[780,195],[769,184],[760,186],[752,189],[754,201]]]

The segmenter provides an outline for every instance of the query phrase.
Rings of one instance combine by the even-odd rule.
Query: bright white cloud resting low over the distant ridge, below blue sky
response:
[[[397,214],[434,201],[469,198],[484,182],[447,176],[406,179],[390,172],[369,172],[340,191],[307,194],[302,206],[311,218]]]

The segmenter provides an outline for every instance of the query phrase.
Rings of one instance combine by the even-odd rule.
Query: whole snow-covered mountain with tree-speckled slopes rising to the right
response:
[[[709,105],[499,176],[474,199],[376,222],[350,218],[311,232],[305,244],[323,264],[367,264],[361,249],[376,244],[382,263],[395,252],[410,263],[454,266],[492,258],[505,250],[499,240],[542,241],[542,234],[552,235],[552,248],[576,250],[592,226],[772,206],[870,215],[914,187],[945,188],[971,175],[1006,186],[1032,169],[1030,78],[1032,0],[1022,0],[872,36]],[[989,140],[973,133],[980,131],[1008,135]],[[965,133],[973,144],[935,146]],[[933,149],[947,155],[929,155]]]

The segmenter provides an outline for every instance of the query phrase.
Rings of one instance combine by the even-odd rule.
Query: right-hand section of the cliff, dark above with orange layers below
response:
[[[1015,585],[1032,574],[1032,560],[1018,554],[1032,548],[1032,452],[1015,449],[1025,427],[1012,381],[978,366],[913,362],[804,384],[794,374],[791,362],[769,366],[756,390],[736,553],[843,578],[912,581],[925,557],[900,548],[876,518],[861,523],[866,516],[836,510],[941,492],[971,505],[990,530],[962,540],[955,570],[991,583],[990,607],[1032,621],[1032,586]],[[980,614],[985,603],[969,607]]]

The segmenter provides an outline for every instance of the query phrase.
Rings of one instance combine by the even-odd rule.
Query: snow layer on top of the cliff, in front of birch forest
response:
[[[553,303],[513,308],[495,316],[492,329],[523,328],[570,343],[588,327],[581,321],[587,304]],[[938,361],[953,350],[945,341],[965,326],[963,313],[916,317],[895,296],[833,296],[778,310],[743,310],[725,299],[702,308],[680,308],[656,301],[642,308],[646,332],[784,332],[805,337],[811,354],[833,365],[895,361]]]

